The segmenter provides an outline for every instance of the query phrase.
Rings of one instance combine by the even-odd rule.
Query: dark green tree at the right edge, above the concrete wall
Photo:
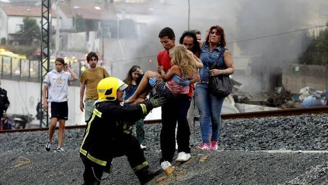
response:
[[[327,23],[328,24],[328,23]],[[299,57],[301,64],[325,65],[328,58],[328,28],[312,38],[308,48]]]

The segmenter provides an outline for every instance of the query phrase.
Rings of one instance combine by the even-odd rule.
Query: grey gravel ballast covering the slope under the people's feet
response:
[[[163,173],[150,184],[326,184],[327,119],[328,114],[223,120],[220,151],[192,149],[189,161],[173,162],[171,176]],[[145,125],[145,155],[153,169],[159,167],[160,128]],[[83,134],[84,129],[66,130],[63,153],[45,152],[48,132],[0,134],[0,184],[82,184],[78,150]],[[199,122],[195,138],[199,145]],[[52,148],[56,143],[57,131]],[[263,152],[267,150],[278,151]],[[31,163],[14,168],[18,159],[27,160],[21,157]],[[138,184],[126,157],[115,158],[113,164],[113,173],[102,184]]]

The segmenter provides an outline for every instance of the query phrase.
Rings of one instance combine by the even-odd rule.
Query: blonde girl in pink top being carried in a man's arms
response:
[[[199,75],[198,68],[202,67],[202,63],[194,58],[194,54],[187,50],[183,45],[177,45],[170,51],[171,69],[166,73],[163,67],[160,67],[160,74],[154,71],[147,71],[142,78],[135,93],[127,99],[126,103],[139,104],[144,102],[149,90],[152,87],[156,89],[157,95],[160,97],[175,98],[179,94],[187,94],[189,86],[182,86],[173,80],[173,75],[180,78],[192,79]]]

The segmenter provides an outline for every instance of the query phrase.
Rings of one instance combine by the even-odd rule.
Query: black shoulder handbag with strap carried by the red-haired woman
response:
[[[222,53],[224,53],[224,51],[225,50],[223,50],[221,52],[220,56],[222,55]],[[220,58],[220,56],[218,57],[218,59]],[[219,69],[219,70],[227,69],[226,67],[218,67],[217,66],[218,59],[211,66],[210,70],[211,69]],[[216,75],[216,76],[211,76],[211,75],[209,76],[209,92],[218,98],[227,97],[231,93],[233,85],[234,85],[234,83],[230,79],[229,75],[220,74],[220,75]]]

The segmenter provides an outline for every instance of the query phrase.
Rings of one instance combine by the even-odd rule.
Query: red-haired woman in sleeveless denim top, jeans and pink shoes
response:
[[[199,69],[200,82],[196,85],[196,104],[199,111],[200,131],[202,143],[199,150],[217,150],[221,129],[221,108],[224,98],[218,98],[208,91],[209,76],[230,75],[234,73],[232,55],[226,46],[226,35],[220,26],[212,26],[209,29],[206,41],[202,44],[200,56],[204,67]],[[223,53],[222,53],[223,52]],[[222,53],[222,54],[221,54]],[[217,61],[218,66],[224,70],[212,69]],[[209,140],[210,124],[212,123],[212,138]]]

